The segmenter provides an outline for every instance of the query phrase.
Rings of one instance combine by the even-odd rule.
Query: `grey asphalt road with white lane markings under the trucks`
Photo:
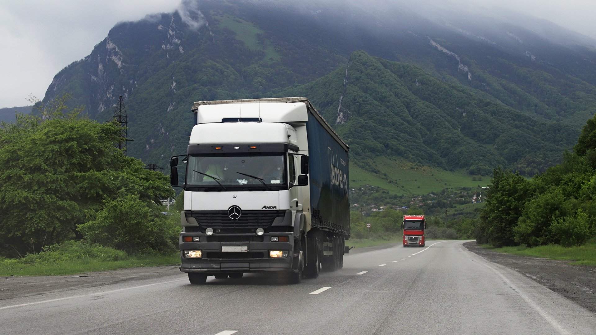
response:
[[[286,285],[185,274],[0,300],[0,334],[595,334],[596,314],[461,246],[373,250]]]

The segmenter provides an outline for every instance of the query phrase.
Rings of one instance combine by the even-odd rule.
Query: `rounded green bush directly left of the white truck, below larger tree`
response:
[[[157,206],[138,196],[106,200],[103,209],[89,212],[89,216],[92,219],[79,225],[78,230],[92,243],[129,254],[169,252],[178,246],[179,219],[163,215]]]

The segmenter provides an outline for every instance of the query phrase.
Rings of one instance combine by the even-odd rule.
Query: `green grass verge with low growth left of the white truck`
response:
[[[0,259],[0,276],[71,275],[138,266],[175,265],[179,262],[178,252],[129,256],[120,250],[69,241],[23,258]]]

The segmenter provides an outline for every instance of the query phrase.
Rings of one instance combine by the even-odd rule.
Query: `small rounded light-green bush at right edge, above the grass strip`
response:
[[[592,237],[591,222],[582,209],[575,215],[555,219],[551,224],[553,237],[564,247],[579,246]]]

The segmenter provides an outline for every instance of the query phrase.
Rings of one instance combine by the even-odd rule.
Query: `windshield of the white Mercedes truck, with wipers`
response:
[[[186,180],[191,187],[279,190],[287,188],[286,175],[283,154],[190,155]]]

